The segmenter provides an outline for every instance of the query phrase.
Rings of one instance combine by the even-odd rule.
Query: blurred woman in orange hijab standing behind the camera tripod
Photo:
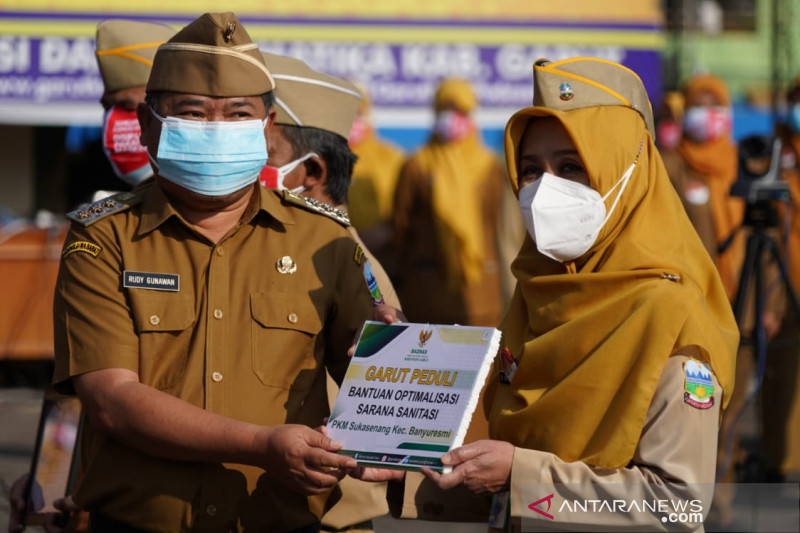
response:
[[[731,196],[739,177],[739,154],[732,138],[733,111],[725,82],[714,75],[698,74],[683,88],[683,135],[673,150],[662,152],[664,165],[689,219],[719,270],[725,290],[734,302],[745,259],[749,229],[745,222],[746,201]],[[776,265],[768,265],[765,286],[776,287]],[[720,424],[717,453],[717,486],[709,521],[725,526],[731,520],[737,468],[747,460],[741,445],[739,419],[752,400],[756,377],[753,345],[755,326],[754,284],[745,293],[739,329],[742,343],[736,360],[736,381],[731,402]],[[762,316],[767,338],[775,335],[783,311],[779,291],[771,290]]]

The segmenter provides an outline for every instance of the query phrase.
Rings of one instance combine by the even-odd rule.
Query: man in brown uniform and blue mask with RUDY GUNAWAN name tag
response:
[[[71,214],[54,383],[92,531],[314,531],[354,466],[311,427],[382,311],[347,230],[256,184],[273,86],[235,15],[198,18],[138,109],[154,183]]]

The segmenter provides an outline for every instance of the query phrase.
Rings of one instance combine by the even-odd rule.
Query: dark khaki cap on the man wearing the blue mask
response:
[[[258,96],[275,87],[258,45],[233,13],[206,13],[158,47],[147,91]]]

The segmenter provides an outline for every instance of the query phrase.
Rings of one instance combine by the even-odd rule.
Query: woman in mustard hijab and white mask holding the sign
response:
[[[534,106],[506,127],[529,234],[486,389],[493,440],[445,454],[452,471],[426,471],[422,486],[408,475],[401,511],[428,518],[433,483],[494,494],[499,528],[523,517],[537,529],[665,528],[653,513],[559,509],[680,499],[708,511],[736,324],[655,149],[638,76],[595,58],[540,60],[534,85]]]

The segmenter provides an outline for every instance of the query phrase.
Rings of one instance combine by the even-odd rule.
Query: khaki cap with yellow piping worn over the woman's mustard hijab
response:
[[[596,57],[533,64],[533,106],[556,111],[618,105],[636,110],[655,140],[653,108],[642,80],[631,69]]]

